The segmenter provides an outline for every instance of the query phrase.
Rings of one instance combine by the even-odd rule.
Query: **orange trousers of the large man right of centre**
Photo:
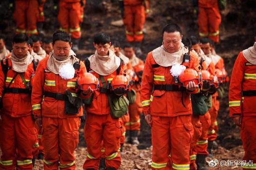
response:
[[[191,115],[152,116],[152,170],[189,170]]]

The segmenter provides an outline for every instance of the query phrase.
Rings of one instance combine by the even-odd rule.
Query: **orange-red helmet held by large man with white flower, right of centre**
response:
[[[191,68],[187,68],[186,70],[184,70],[179,76],[179,80],[184,87],[186,87],[190,81],[194,81],[195,85],[200,84],[200,76],[198,72]]]

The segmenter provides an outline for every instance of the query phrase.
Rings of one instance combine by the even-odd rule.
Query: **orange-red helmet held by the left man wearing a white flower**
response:
[[[92,90],[97,90],[99,88],[99,80],[92,73],[85,72],[77,79],[77,85],[81,90],[87,90],[88,87],[91,87]]]

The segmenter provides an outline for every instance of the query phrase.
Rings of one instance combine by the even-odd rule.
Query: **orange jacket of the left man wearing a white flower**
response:
[[[42,59],[36,69],[34,76],[34,85],[32,90],[32,109],[33,114],[37,117],[50,118],[69,118],[83,115],[82,107],[78,114],[65,114],[65,101],[55,98],[44,97],[44,92],[54,92],[65,94],[66,90],[76,93],[76,79],[86,72],[84,63],[80,62],[81,67],[78,72],[78,77],[65,80],[60,75],[54,74],[47,69],[48,57]],[[81,95],[82,98],[84,98]]]

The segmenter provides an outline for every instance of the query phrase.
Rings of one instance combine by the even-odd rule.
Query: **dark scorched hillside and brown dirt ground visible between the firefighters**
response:
[[[191,0],[150,0],[151,9],[145,24],[145,38],[142,42],[141,59],[146,54],[162,44],[161,30],[167,23],[175,22],[182,26],[183,37],[197,35],[198,26],[193,13]],[[11,38],[15,30],[15,23],[11,19],[12,13],[7,10],[7,1],[0,2],[0,34],[7,37],[7,46],[11,48]],[[237,54],[245,48],[253,45],[253,35],[256,28],[256,1],[255,0],[228,0],[228,7],[222,11],[222,24],[220,26],[220,44],[216,45],[216,51],[225,61],[226,69],[231,75]],[[51,0],[45,4],[44,24],[45,35],[51,36],[58,29],[56,12],[53,10]],[[86,57],[94,53],[92,45],[93,35],[98,32],[106,32],[113,40],[125,43],[124,26],[113,26],[111,22],[121,20],[117,0],[88,0],[85,9],[84,22],[81,25],[82,37],[81,50],[78,54]],[[139,146],[124,145],[120,170],[149,170],[151,165],[151,130],[141,116],[141,133]],[[214,156],[221,160],[242,160],[243,146],[239,128],[229,118],[228,85],[226,94],[221,100],[221,108],[218,116],[218,147],[214,150]],[[80,144],[75,150],[77,170],[82,170],[83,162],[87,155],[87,149],[81,130]],[[36,161],[34,170],[42,170],[42,161]],[[239,170],[238,166],[210,167],[209,170]]]

